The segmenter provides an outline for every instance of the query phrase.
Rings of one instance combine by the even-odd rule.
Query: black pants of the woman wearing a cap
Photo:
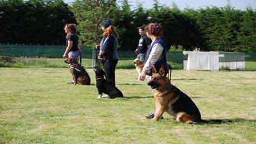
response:
[[[118,60],[106,59],[103,64],[103,70],[106,73],[106,79],[116,87],[115,71]]]

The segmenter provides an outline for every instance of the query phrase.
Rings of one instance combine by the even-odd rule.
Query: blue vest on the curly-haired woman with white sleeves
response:
[[[162,38],[159,38],[157,40],[155,40],[153,42],[153,44],[150,45],[148,51],[146,52],[146,60],[148,60],[150,52],[152,51],[152,48],[154,47],[155,44],[160,44],[163,46],[163,52],[160,55],[159,59],[157,60],[157,62],[154,64],[155,69],[158,71],[160,70],[160,68],[162,68],[162,66],[164,67],[165,70],[165,74],[168,73],[168,67],[167,67],[167,58],[166,58],[166,46],[165,46],[165,41]]]

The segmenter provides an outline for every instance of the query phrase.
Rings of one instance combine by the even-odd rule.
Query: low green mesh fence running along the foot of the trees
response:
[[[44,46],[44,45],[1,45],[0,56],[11,57],[48,57],[48,58],[62,58],[65,46]],[[82,57],[86,59],[89,67],[93,65],[93,47],[82,47]],[[126,61],[132,67],[132,61],[136,55],[134,51],[118,50],[120,61]],[[173,51],[167,53],[169,63],[181,65],[183,69],[183,60],[187,60],[187,55],[183,51]],[[245,61],[256,61],[256,52],[245,53]],[[131,64],[130,64],[131,63]],[[252,64],[254,65],[254,63]],[[124,66],[124,68],[126,68]],[[133,68],[133,67],[132,67]]]

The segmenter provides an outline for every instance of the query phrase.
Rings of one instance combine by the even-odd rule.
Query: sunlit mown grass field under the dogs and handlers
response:
[[[203,119],[182,124],[164,114],[135,70],[117,70],[123,99],[97,99],[92,85],[68,85],[67,68],[0,68],[0,143],[256,143],[255,71],[174,70],[172,83],[190,95]]]

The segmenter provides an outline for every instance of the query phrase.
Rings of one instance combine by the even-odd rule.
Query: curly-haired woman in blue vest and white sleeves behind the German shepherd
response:
[[[168,73],[165,41],[162,38],[162,27],[158,23],[149,23],[145,27],[145,32],[152,42],[146,53],[146,63],[139,76],[141,81],[145,80],[145,78],[148,81],[151,80],[153,66],[157,70],[157,73],[162,67],[165,69],[165,73]],[[153,117],[154,114],[146,116],[146,118]]]

